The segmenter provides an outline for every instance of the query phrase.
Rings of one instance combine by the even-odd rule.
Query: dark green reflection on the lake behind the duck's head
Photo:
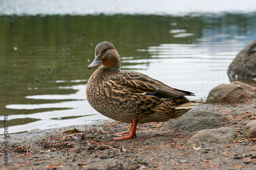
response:
[[[3,16],[4,17],[4,16]],[[154,15],[22,16],[7,27],[0,21],[0,115],[18,114],[9,104],[54,103],[60,100],[32,100],[36,94],[70,94],[72,89],[56,89],[57,80],[87,80],[95,69],[87,69],[94,48],[101,41],[112,42],[122,57],[149,59],[148,52],[137,51],[163,43],[191,44],[205,34],[246,34],[253,15],[173,17]],[[175,37],[180,29],[191,36]],[[222,29],[220,31],[220,29]],[[231,31],[230,31],[231,30]],[[77,36],[86,37],[78,42]],[[139,63],[123,63],[123,66]],[[148,64],[145,62],[145,64]],[[85,82],[86,83],[86,82]],[[62,86],[80,83],[62,83]],[[30,89],[31,88],[31,89]],[[84,94],[85,95],[85,94]],[[37,109],[36,112],[43,110]],[[26,111],[24,111],[26,112]],[[32,111],[33,112],[33,111]],[[31,113],[31,111],[28,111]],[[25,113],[24,113],[25,114]]]

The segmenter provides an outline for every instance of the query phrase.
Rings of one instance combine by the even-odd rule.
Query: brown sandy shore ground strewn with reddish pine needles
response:
[[[256,143],[242,133],[256,119],[255,104],[199,106],[230,119],[225,127],[238,133],[231,143],[187,145],[198,131],[166,129],[163,123],[139,124],[137,138],[115,141],[112,135],[130,125],[105,122],[12,134],[8,165],[1,147],[0,169],[256,169]]]

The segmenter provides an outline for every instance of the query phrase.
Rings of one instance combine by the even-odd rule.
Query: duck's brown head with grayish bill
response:
[[[97,67],[99,64],[120,69],[120,56],[112,43],[104,41],[95,47],[95,59],[88,68]]]

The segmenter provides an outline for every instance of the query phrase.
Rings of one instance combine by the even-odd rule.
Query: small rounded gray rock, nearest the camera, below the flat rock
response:
[[[237,132],[232,128],[202,130],[192,136],[186,144],[227,143],[237,138]]]

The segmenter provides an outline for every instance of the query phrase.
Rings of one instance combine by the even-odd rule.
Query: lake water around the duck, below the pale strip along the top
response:
[[[230,83],[229,64],[256,38],[256,13],[26,15],[8,24],[0,21],[0,134],[4,115],[9,133],[106,119],[85,94],[96,69],[87,67],[101,41],[115,45],[122,70],[205,100],[210,89]]]

